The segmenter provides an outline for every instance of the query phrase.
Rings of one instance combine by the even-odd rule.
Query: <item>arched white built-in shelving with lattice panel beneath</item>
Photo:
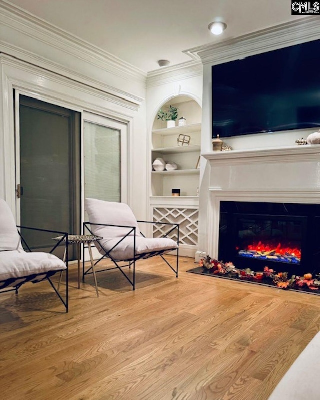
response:
[[[194,257],[197,250],[198,238],[198,207],[200,169],[198,161],[200,157],[201,142],[201,108],[194,101],[188,99],[179,103],[170,104],[179,108],[179,116],[185,115],[190,121],[186,126],[165,128],[159,126],[161,122],[155,121],[152,130],[151,158],[153,161],[160,157],[165,162],[173,161],[178,165],[174,171],[151,172],[151,196],[153,220],[156,222],[168,222],[180,224],[180,254]],[[163,122],[162,122],[163,123]],[[164,124],[164,123],[163,123]],[[189,145],[178,145],[179,135],[190,136]],[[172,189],[180,189],[180,196],[172,196]],[[153,230],[153,236],[157,237],[166,233],[165,227],[157,225]]]

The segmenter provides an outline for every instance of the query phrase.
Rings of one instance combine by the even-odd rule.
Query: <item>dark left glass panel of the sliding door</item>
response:
[[[80,114],[20,95],[19,138],[21,225],[80,233]],[[24,234],[52,247],[50,235]]]

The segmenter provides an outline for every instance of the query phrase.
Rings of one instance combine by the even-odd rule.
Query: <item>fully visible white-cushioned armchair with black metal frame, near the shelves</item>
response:
[[[101,240],[95,243],[102,255],[95,264],[105,257],[110,258],[115,264],[114,268],[103,269],[103,271],[118,268],[130,282],[133,290],[135,290],[136,261],[160,255],[173,270],[175,276],[178,277],[179,224],[160,222],[160,224],[169,226],[169,230],[164,237],[146,238],[140,232],[138,222],[152,224],[159,222],[137,221],[127,204],[86,198],[85,209],[89,217],[89,222],[84,222],[84,231],[88,230],[91,234],[102,237]],[[174,231],[176,232],[176,241],[168,237]],[[174,267],[163,257],[163,254],[172,250],[176,250],[177,253]],[[127,262],[127,264],[120,266],[119,262],[122,261]],[[132,266],[132,278],[124,272],[124,266],[129,266],[130,268]],[[91,273],[91,271],[92,267],[84,271],[84,275]],[[101,272],[101,270],[95,272]]]

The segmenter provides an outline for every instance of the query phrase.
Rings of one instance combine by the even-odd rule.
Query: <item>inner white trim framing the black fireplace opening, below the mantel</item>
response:
[[[209,188],[207,202],[206,253],[218,257],[221,201],[320,204],[320,189],[225,190]]]

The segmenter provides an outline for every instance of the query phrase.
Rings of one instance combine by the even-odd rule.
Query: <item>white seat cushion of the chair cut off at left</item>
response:
[[[63,269],[66,269],[65,263],[53,254],[23,250],[0,252],[0,282]]]

